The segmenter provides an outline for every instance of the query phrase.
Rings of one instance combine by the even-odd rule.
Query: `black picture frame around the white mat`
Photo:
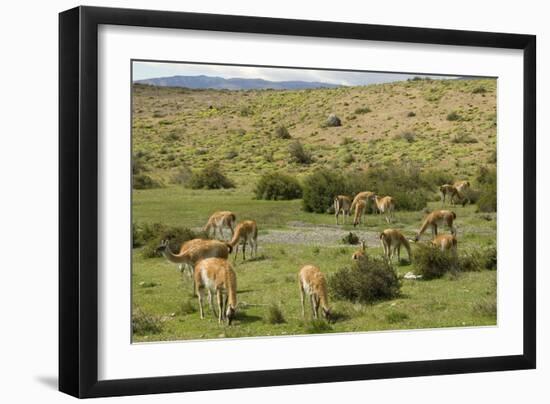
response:
[[[523,354],[98,381],[100,24],[523,50]],[[85,398],[535,368],[535,73],[533,35],[96,7],[60,13],[59,390]]]

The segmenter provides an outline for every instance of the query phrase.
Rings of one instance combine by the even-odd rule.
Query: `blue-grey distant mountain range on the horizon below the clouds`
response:
[[[134,83],[158,87],[211,88],[216,90],[303,90],[307,88],[334,88],[337,84],[316,81],[269,81],[263,79],[241,79],[214,76],[171,76],[136,80]]]

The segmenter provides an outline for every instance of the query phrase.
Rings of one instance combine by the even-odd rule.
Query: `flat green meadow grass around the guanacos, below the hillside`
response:
[[[238,279],[238,314],[231,327],[219,325],[205,306],[207,317],[199,318],[197,299],[191,281],[164,258],[145,259],[139,249],[133,253],[133,305],[143,313],[161,318],[161,330],[134,335],[134,341],[203,339],[243,336],[294,335],[318,332],[353,332],[393,329],[460,327],[496,324],[496,271],[462,273],[457,278],[445,276],[431,281],[402,281],[401,296],[372,305],[331,299],[336,321],[321,325],[311,321],[306,305],[302,319],[297,285],[298,270],[305,264],[318,265],[330,276],[349,265],[357,246],[341,244],[340,238],[325,244],[262,243],[262,235],[271,230],[309,231],[295,227],[295,222],[313,229],[329,228],[344,235],[352,226],[334,225],[328,214],[305,213],[296,201],[259,201],[246,188],[229,191],[187,190],[167,187],[134,192],[134,221],[165,222],[199,227],[220,207],[237,214],[238,220],[255,218],[260,230],[260,259],[235,263]],[[439,202],[430,208],[440,207]],[[494,243],[496,221],[476,213],[475,206],[453,207],[457,213],[459,248],[472,250]],[[251,212],[250,216],[247,212]],[[422,212],[397,212],[392,227],[412,236],[419,226]],[[316,227],[317,226],[317,227]],[[319,227],[320,226],[320,227]],[[354,231],[376,236],[387,225],[382,216],[367,215],[366,226]],[[445,231],[445,230],[443,230]],[[426,236],[425,239],[429,239]],[[414,254],[413,245],[413,254]],[[370,255],[382,254],[379,246],[367,249]],[[403,251],[403,257],[406,257]],[[232,260],[233,258],[231,258]],[[412,265],[396,266],[400,275],[414,272]],[[284,321],[270,321],[277,307]]]

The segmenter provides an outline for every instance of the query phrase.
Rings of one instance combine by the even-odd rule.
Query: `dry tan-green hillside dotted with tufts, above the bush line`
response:
[[[319,167],[358,171],[408,160],[471,178],[480,164],[496,160],[494,79],[294,91],[135,84],[133,95],[134,159],[165,182],[182,167],[212,162],[231,176]],[[342,125],[327,126],[330,114]],[[290,155],[297,141],[309,161]]]

